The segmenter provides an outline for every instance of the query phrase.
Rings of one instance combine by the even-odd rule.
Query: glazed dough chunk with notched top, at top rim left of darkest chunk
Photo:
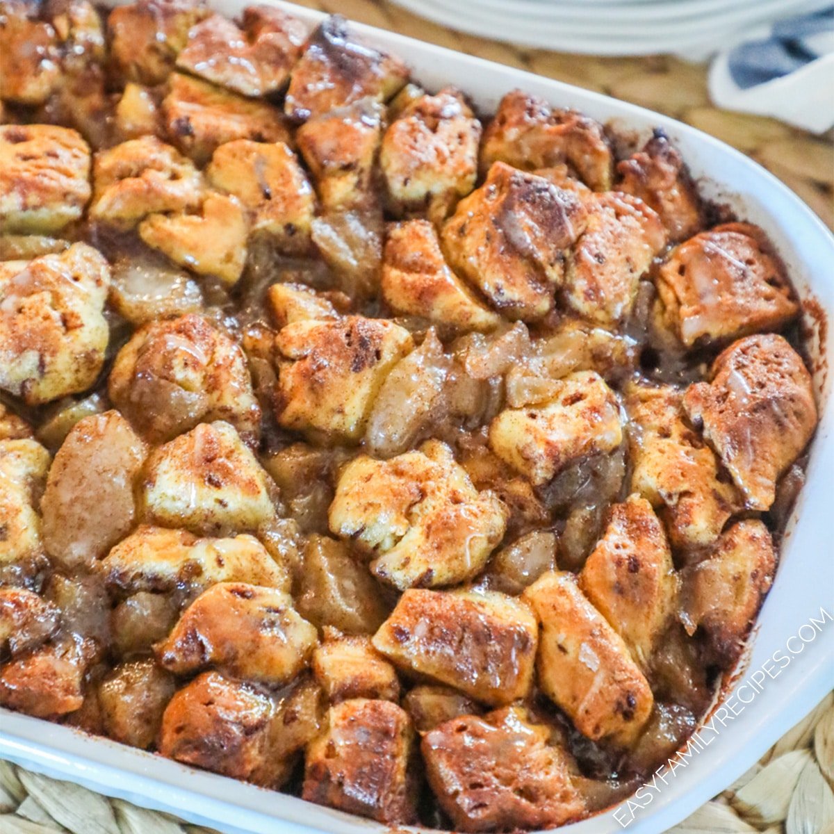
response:
[[[241,23],[219,14],[198,23],[177,67],[244,96],[278,92],[301,54],[307,27],[270,6],[245,8]]]

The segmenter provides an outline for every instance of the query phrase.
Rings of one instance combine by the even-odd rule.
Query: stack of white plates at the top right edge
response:
[[[394,0],[435,23],[559,52],[705,53],[831,0]]]

